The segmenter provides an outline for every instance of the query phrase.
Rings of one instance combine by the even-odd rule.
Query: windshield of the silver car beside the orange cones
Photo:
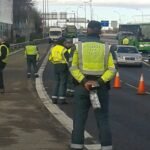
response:
[[[118,47],[118,53],[138,53],[135,47]]]

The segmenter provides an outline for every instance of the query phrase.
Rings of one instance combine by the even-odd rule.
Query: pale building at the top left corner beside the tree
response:
[[[13,0],[0,0],[0,36],[11,37]]]

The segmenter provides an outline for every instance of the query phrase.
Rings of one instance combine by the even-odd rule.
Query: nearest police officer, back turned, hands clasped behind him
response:
[[[101,103],[100,109],[95,109],[95,117],[99,129],[99,139],[102,150],[112,150],[112,137],[109,125],[109,89],[107,82],[115,75],[115,65],[109,46],[100,42],[101,30],[98,21],[90,21],[87,28],[87,38],[78,43],[78,49],[72,56],[70,71],[78,81],[74,94],[74,118],[71,140],[72,150],[82,150],[84,146],[84,129],[91,106],[90,89],[99,85],[97,94]]]

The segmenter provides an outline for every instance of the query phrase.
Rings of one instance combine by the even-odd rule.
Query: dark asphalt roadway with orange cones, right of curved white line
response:
[[[150,68],[145,65],[142,68],[119,68],[122,87],[118,90],[112,88],[110,91],[110,120],[116,150],[147,150],[150,147],[150,95],[137,95],[137,89],[126,85],[128,83],[137,87],[140,75],[143,73],[146,90],[150,92],[149,71]],[[50,96],[54,84],[50,63],[44,71],[43,81]],[[72,98],[68,98],[67,101],[68,105],[59,105],[59,107],[72,117]],[[92,109],[89,112],[86,130],[98,140]]]

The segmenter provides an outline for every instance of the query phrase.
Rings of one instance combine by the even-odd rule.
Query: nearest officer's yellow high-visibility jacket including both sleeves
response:
[[[101,76],[104,82],[113,78],[116,69],[107,44],[79,43],[70,67],[71,74],[81,82],[86,75]]]

